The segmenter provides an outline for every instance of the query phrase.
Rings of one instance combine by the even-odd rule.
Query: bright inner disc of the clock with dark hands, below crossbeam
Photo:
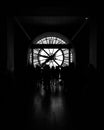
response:
[[[61,66],[64,62],[64,54],[61,49],[40,49],[38,56],[40,66]]]

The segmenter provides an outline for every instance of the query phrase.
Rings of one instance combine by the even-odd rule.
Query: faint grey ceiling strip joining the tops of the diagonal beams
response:
[[[20,22],[25,24],[63,25],[78,24],[84,20],[79,16],[17,16]]]

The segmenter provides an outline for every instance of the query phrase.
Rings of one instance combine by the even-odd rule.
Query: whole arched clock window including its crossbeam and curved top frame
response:
[[[29,48],[28,61],[34,67],[45,65],[50,68],[66,67],[69,66],[70,60],[72,62],[72,53],[69,53],[68,48],[69,41],[62,35],[45,33],[36,38],[32,44],[35,46]]]

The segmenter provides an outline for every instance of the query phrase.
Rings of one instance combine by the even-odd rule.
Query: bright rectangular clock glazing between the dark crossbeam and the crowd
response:
[[[32,64],[32,52],[29,55],[30,63]],[[52,67],[65,67],[69,66],[69,50],[67,48],[43,48],[43,49],[33,49],[33,65],[44,67],[49,65]]]

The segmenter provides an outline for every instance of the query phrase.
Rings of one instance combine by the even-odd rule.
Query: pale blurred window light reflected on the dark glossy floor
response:
[[[61,91],[63,86],[58,81],[53,80],[50,87],[50,94],[41,86],[37,94],[34,95],[33,119],[37,122],[38,127],[41,124],[41,126],[47,126],[49,129],[53,127],[61,128],[65,126],[66,114],[64,110],[65,101]]]

